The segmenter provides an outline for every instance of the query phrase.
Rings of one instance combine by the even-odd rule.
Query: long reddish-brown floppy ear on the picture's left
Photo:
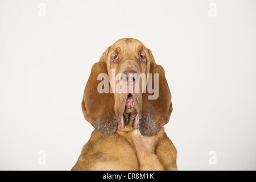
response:
[[[114,113],[113,93],[98,93],[97,86],[102,80],[97,80],[100,73],[108,74],[104,61],[95,63],[89,80],[84,89],[82,113],[93,127],[104,134],[113,134],[117,130],[117,120]],[[109,82],[108,82],[109,84]],[[110,89],[110,85],[109,89]]]

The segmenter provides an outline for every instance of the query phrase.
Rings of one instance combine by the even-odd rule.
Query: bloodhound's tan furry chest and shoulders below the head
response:
[[[131,126],[112,135],[94,130],[72,170],[177,170],[176,155],[163,128],[151,137]]]

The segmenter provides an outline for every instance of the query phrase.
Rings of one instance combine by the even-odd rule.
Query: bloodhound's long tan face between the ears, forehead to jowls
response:
[[[138,128],[139,118],[142,117],[142,89],[145,89],[139,83],[142,81],[139,76],[146,76],[149,72],[150,60],[148,49],[136,39],[118,40],[109,47],[106,59],[102,60],[108,68],[110,86],[115,90],[114,111],[119,129],[123,129],[127,123],[131,123],[134,129]],[[121,79],[118,79],[118,75]],[[143,81],[146,85],[146,79]],[[122,92],[118,92],[118,84]],[[138,92],[135,92],[135,86]]]

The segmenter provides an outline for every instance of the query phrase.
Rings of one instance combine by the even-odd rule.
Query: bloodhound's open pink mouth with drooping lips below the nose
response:
[[[138,94],[128,93],[123,94],[122,110],[123,114],[118,118],[118,127],[123,129],[128,123],[131,124],[133,129],[139,127],[139,108],[137,103]]]

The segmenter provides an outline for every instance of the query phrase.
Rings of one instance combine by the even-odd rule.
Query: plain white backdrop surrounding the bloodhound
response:
[[[178,168],[256,169],[256,1],[0,0],[0,23],[0,169],[72,168],[90,68],[126,37],[166,70]]]

